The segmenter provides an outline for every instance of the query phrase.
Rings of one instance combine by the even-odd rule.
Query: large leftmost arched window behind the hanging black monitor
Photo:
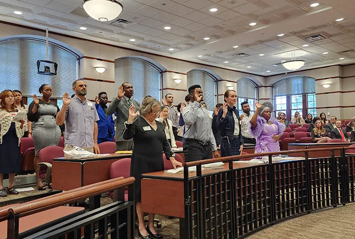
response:
[[[71,94],[72,83],[78,79],[79,55],[58,44],[50,43],[48,59],[58,64],[56,76],[38,75],[37,60],[46,60],[46,44],[41,39],[9,38],[0,41],[0,87],[20,90],[24,96],[39,94],[42,84],[52,87],[53,98],[61,99],[65,92]],[[56,100],[55,100],[56,101]],[[61,100],[58,105],[61,106]]]

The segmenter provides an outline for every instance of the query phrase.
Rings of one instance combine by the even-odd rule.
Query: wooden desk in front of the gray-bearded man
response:
[[[132,154],[67,159],[54,158],[52,163],[52,187],[57,190],[71,190],[110,179],[110,166],[120,158],[130,158]]]

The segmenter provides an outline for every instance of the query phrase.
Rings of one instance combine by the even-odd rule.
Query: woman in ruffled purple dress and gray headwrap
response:
[[[249,132],[256,138],[255,153],[280,151],[279,139],[285,130],[285,124],[271,118],[274,106],[270,102],[257,102],[255,107],[255,114],[249,123]]]

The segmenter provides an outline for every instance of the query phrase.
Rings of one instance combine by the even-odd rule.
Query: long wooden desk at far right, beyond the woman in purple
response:
[[[330,157],[332,148],[336,147],[349,147],[354,143],[290,143],[288,145],[288,150],[297,150],[297,149],[312,149],[312,148],[329,148],[329,150],[320,151],[320,152],[309,152],[309,158],[319,158],[319,157]],[[340,156],[341,151],[335,150],[334,156]],[[290,153],[290,157],[305,157],[305,153]]]

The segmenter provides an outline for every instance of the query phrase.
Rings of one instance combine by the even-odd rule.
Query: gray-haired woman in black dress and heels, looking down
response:
[[[154,214],[149,214],[147,228],[144,225],[144,213],[141,207],[141,179],[143,173],[150,173],[164,170],[163,154],[165,153],[176,168],[182,166],[174,158],[167,136],[165,135],[163,123],[155,120],[159,114],[160,103],[153,97],[145,98],[139,109],[140,116],[135,113],[132,106],[129,111],[129,118],[125,122],[122,136],[128,140],[133,138],[134,149],[131,161],[131,176],[135,177],[135,201],[136,211],[139,220],[139,235],[143,239],[163,238],[154,228]],[[172,205],[174,206],[174,205]]]

